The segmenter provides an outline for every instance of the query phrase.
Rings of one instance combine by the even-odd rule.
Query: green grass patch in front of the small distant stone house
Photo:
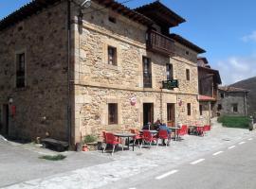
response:
[[[249,118],[245,116],[220,116],[218,122],[226,128],[248,129]]]

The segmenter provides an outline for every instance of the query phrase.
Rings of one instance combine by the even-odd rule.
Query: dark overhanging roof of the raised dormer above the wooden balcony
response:
[[[184,18],[176,14],[172,9],[167,8],[159,1],[144,5],[135,10],[151,18],[159,26],[172,27],[186,22]]]

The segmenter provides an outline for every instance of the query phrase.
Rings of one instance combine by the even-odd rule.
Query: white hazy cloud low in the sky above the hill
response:
[[[223,85],[229,85],[249,77],[256,77],[256,56],[219,60],[213,67],[219,70]]]

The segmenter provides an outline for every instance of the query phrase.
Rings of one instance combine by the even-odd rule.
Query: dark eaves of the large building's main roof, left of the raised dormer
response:
[[[145,26],[152,26],[154,22],[147,18],[146,16],[138,13],[133,9],[129,9],[122,4],[116,2],[115,0],[93,0],[98,4],[113,9],[113,11],[117,11],[123,16]],[[27,5],[23,6],[21,9],[17,9],[16,11],[9,14],[9,16],[5,17],[3,20],[0,20],[0,31],[13,26],[16,23],[19,23],[28,17],[36,14],[38,11],[42,9],[46,9],[54,4],[60,3],[61,0],[33,0]]]

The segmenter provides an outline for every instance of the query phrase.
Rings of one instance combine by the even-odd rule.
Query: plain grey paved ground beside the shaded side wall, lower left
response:
[[[66,159],[51,162],[39,159],[42,155],[58,154],[47,149],[38,149],[33,145],[11,145],[0,135],[0,188],[26,180],[50,177],[51,175],[72,171],[95,164],[108,163],[109,159],[67,151],[62,154]]]

